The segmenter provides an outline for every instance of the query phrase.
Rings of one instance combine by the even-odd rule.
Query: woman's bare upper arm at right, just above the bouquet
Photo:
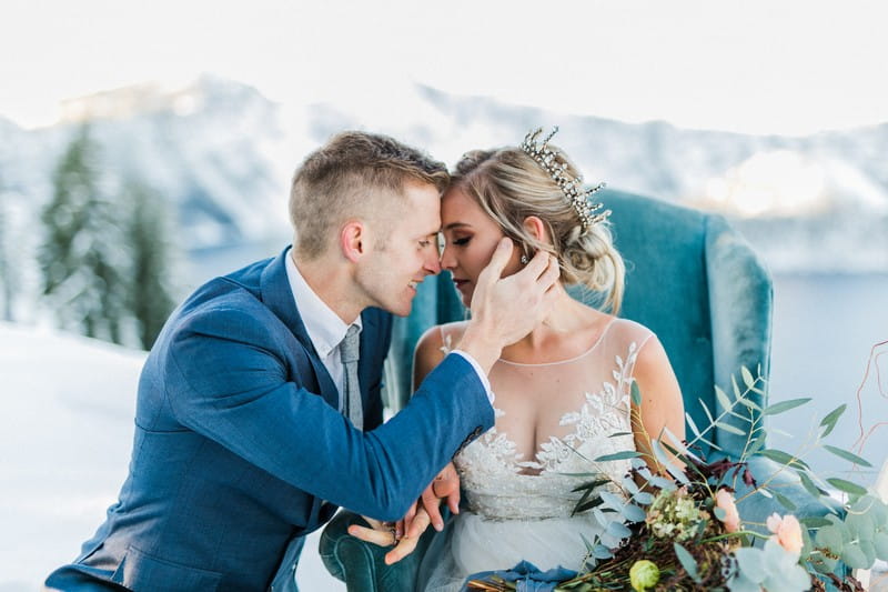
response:
[[[656,337],[652,335],[638,352],[634,377],[642,394],[640,407],[632,404],[635,448],[644,454],[653,471],[664,473],[664,468],[654,456],[650,441],[660,440],[672,448],[677,448],[678,444],[665,435],[664,429],[679,442],[685,440],[685,404],[673,367]],[[672,454],[669,456],[676,466],[682,466]]]

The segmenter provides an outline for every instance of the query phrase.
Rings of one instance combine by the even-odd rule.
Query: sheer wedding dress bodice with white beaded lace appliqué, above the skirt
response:
[[[490,375],[496,424],[454,459],[468,510],[491,520],[566,518],[579,496],[572,490],[589,481],[589,472],[619,482],[628,472],[627,460],[593,460],[634,449],[633,370],[650,335],[637,323],[615,319],[574,359],[497,361]],[[509,417],[507,408],[518,409],[516,398],[522,397],[542,398],[537,407],[546,411],[533,425],[526,417]]]

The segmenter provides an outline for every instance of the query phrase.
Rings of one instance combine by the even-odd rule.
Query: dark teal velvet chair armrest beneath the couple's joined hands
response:
[[[366,525],[360,515],[341,510],[321,533],[319,552],[327,571],[345,582],[349,592],[410,592],[434,530],[428,529],[416,549],[393,565],[384,558],[391,548],[365,543],[349,534],[351,524]]]

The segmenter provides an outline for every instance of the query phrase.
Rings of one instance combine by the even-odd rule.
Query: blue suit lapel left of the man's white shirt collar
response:
[[[286,278],[286,257],[290,257],[290,247],[284,249],[281,254],[272,259],[265,267],[260,280],[260,299],[275,317],[283,321],[293,333],[293,337],[296,338],[296,341],[303,347],[317,379],[321,397],[333,409],[339,409],[340,393],[336,390],[336,385],[333,384],[333,379],[330,378],[326,368],[317,357],[317,351],[315,351],[312,340],[309,339],[305,323],[302,322],[302,317],[293,300],[293,291],[290,289],[290,281]]]

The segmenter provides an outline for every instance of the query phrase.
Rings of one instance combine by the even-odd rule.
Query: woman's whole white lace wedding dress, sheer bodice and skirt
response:
[[[582,566],[584,536],[591,541],[604,526],[592,512],[571,515],[581,495],[572,490],[591,481],[571,473],[596,471],[617,481],[627,473],[628,461],[591,461],[634,449],[628,433],[633,369],[652,334],[615,319],[574,359],[496,362],[491,371],[496,424],[454,459],[463,509],[426,553],[420,590],[458,591],[470,574],[509,569],[522,560],[542,571]],[[442,330],[442,338],[446,349],[452,335]],[[544,410],[535,425],[509,421],[508,408],[522,398],[537,399]],[[535,453],[528,458],[523,450]]]

